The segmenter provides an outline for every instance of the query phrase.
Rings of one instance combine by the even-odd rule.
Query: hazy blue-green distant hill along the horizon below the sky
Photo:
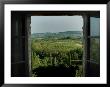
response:
[[[31,35],[32,38],[63,38],[63,37],[82,37],[82,31],[65,31],[65,32],[57,32],[57,33],[33,33]]]

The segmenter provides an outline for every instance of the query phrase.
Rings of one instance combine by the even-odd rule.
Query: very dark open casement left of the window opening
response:
[[[28,18],[29,19],[29,18]],[[11,76],[29,76],[27,16],[11,13]]]

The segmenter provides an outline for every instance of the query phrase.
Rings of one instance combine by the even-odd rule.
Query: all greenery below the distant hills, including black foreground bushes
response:
[[[80,38],[32,38],[33,76],[82,76]]]

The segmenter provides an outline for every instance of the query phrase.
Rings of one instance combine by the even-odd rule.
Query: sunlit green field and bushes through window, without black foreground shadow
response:
[[[39,67],[63,65],[78,66],[75,76],[82,76],[83,46],[80,38],[42,39],[32,38],[32,70]],[[71,61],[79,60],[79,61]],[[33,76],[37,76],[33,72]]]

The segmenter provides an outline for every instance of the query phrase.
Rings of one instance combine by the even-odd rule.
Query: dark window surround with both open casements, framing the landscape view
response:
[[[11,12],[11,76],[32,76],[31,16],[80,15],[83,17],[83,76],[100,76],[100,12]],[[96,54],[97,53],[97,54]]]

